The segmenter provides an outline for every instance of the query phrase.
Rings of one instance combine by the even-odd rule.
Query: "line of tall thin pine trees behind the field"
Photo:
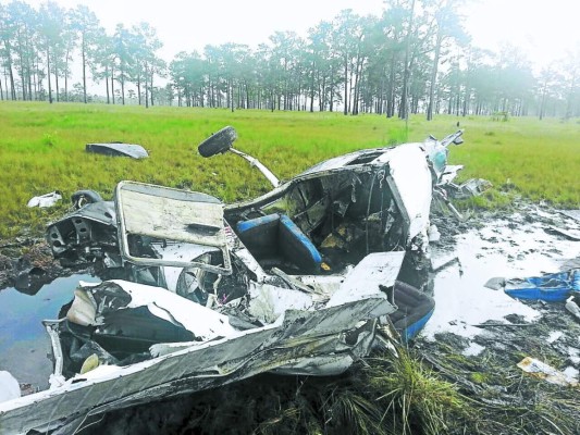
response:
[[[303,37],[257,48],[207,45],[169,64],[155,27],[109,35],[86,5],[0,3],[0,98],[49,102],[377,113],[580,116],[580,46],[532,73],[516,47],[470,44],[464,0],[387,0],[380,16],[344,10]],[[73,65],[82,82],[72,84]],[[161,80],[160,80],[161,79]],[[89,95],[87,85],[102,89]],[[164,86],[158,85],[164,83]]]

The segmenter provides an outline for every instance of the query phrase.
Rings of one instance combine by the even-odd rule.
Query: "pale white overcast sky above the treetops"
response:
[[[0,0],[7,3],[8,0]],[[35,8],[41,0],[25,0]],[[469,1],[469,0],[468,0]],[[382,0],[57,0],[65,8],[88,5],[108,32],[116,23],[140,21],[156,27],[170,61],[178,51],[201,52],[208,45],[268,41],[275,30],[306,36],[321,20],[341,10],[381,14]],[[539,67],[566,54],[580,41],[580,0],[471,0],[465,8],[473,44],[497,50],[502,42],[522,49]]]

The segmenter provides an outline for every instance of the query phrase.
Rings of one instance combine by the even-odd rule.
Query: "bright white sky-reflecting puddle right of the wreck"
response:
[[[441,270],[434,276],[436,309],[424,336],[449,332],[469,338],[482,333],[473,325],[488,321],[507,323],[505,316],[509,314],[527,322],[541,316],[530,304],[485,287],[492,277],[558,272],[580,257],[579,241],[546,232],[546,219],[563,227],[573,226],[572,220],[557,213],[530,213],[540,221],[526,222],[530,214],[513,213],[468,229],[445,246],[432,247],[433,269]]]

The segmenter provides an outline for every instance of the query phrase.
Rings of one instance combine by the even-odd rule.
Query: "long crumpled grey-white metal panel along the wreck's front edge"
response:
[[[288,310],[274,324],[123,368],[100,365],[61,386],[0,403],[0,424],[9,433],[26,432],[47,423],[64,423],[96,408],[106,412],[274,369],[296,372],[304,366],[298,362],[303,358],[324,358],[328,363],[318,366],[317,374],[335,374],[348,366],[341,361],[351,361],[353,356],[369,351],[374,327],[357,325],[372,323],[372,319],[393,310],[382,298],[313,311]],[[348,338],[348,332],[354,336]]]

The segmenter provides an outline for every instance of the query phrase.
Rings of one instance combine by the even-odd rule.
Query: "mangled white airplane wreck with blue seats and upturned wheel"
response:
[[[412,339],[434,301],[402,269],[414,272],[412,252],[428,248],[433,191],[446,199],[447,147],[461,133],[341,156],[281,183],[225,127],[200,154],[238,154],[270,192],[224,206],[122,182],[113,201],[74,196],[77,210],[47,240],[64,264],[106,281],[81,283],[45,322],[50,388],[1,402],[0,427],[76,427],[267,371],[338,374],[397,332]]]

